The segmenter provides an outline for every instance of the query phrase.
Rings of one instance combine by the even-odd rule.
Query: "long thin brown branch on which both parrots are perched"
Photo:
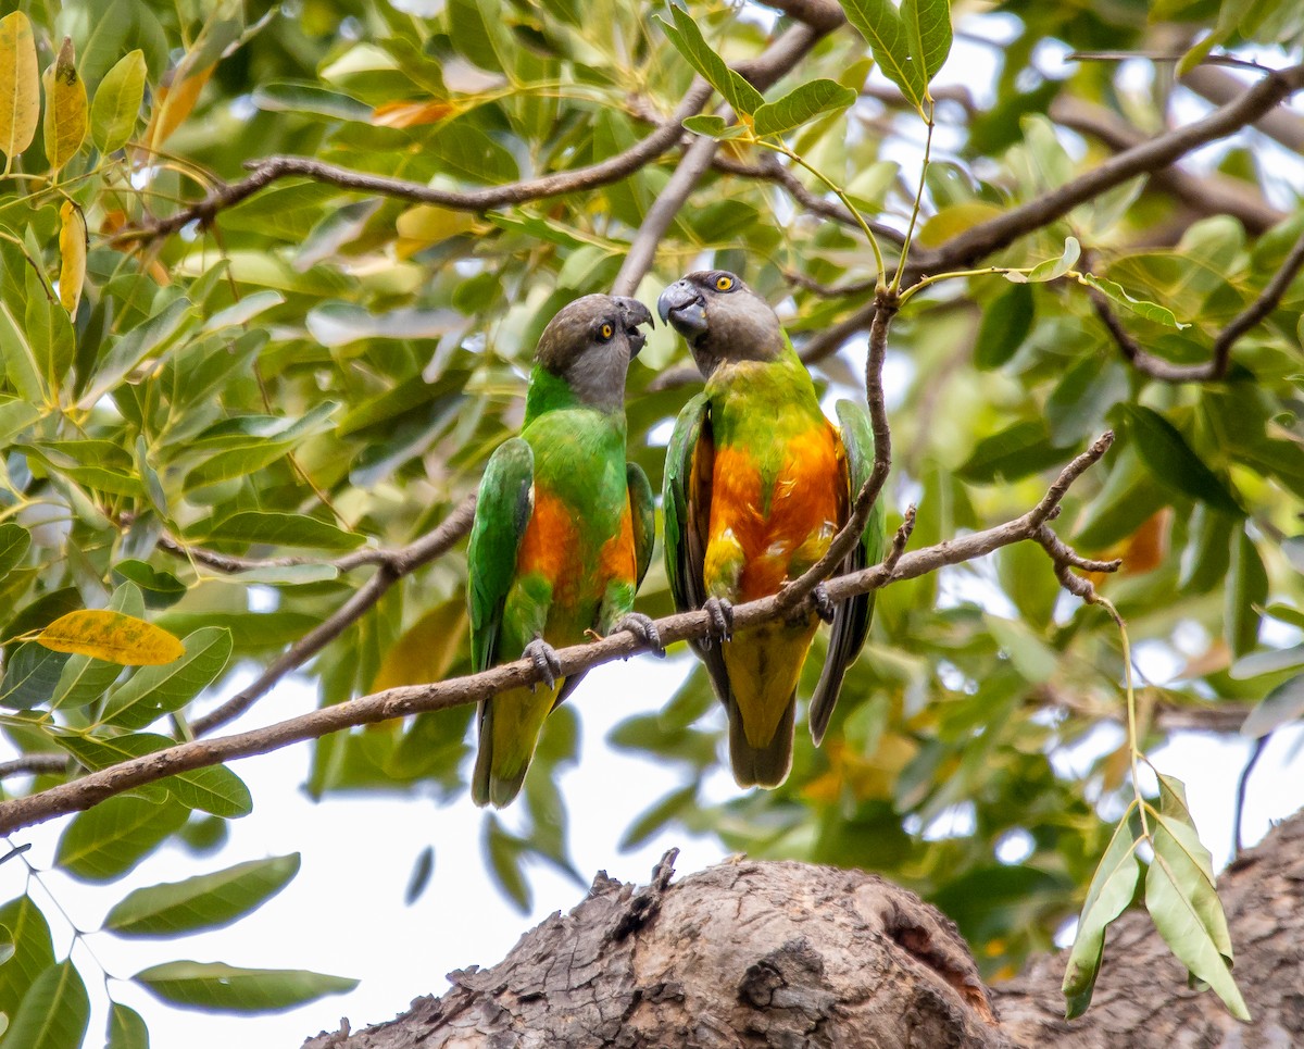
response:
[[[1099,462],[1108,449],[1112,434],[1099,437],[1060,472],[1043,498],[1028,513],[1013,521],[951,539],[921,551],[904,553],[895,566],[875,565],[862,571],[840,575],[827,585],[833,601],[844,601],[857,594],[879,590],[898,579],[914,579],[947,565],[958,565],[983,557],[992,551],[1025,539],[1035,539],[1038,530],[1048,519],[1069,485],[1090,466]],[[445,522],[447,524],[447,522]],[[734,608],[735,630],[746,630],[785,615],[780,595],[739,604]],[[657,620],[657,630],[665,645],[675,641],[705,637],[713,629],[707,612],[694,611]],[[588,645],[574,645],[557,652],[561,675],[572,676],[580,671],[610,663],[647,646],[634,634],[621,631]],[[205,768],[236,758],[267,754],[291,744],[318,738],[356,725],[407,718],[413,714],[464,706],[486,699],[507,689],[524,688],[539,681],[539,671],[532,660],[518,659],[482,673],[438,681],[429,685],[404,685],[372,695],[349,699],[335,706],[314,710],[252,732],[222,736],[214,740],[194,740],[177,744],[153,754],[132,758],[110,768],[51,787],[27,797],[0,801],[0,834],[30,827],[67,813],[82,812],[108,797],[156,783],[179,772]]]

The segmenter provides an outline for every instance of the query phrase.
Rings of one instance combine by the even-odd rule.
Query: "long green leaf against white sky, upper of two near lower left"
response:
[[[137,889],[108,912],[119,935],[171,937],[220,929],[258,909],[299,873],[299,853],[250,860],[213,874]]]

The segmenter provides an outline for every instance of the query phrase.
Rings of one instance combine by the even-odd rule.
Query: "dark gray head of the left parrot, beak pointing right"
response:
[[[535,359],[566,380],[585,404],[614,410],[625,404],[625,373],[647,335],[652,312],[638,299],[585,295],[567,303],[539,337]]]

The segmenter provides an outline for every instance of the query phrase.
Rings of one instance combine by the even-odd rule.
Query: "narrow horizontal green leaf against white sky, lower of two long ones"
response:
[[[303,969],[243,969],[222,962],[164,962],[132,977],[156,998],[216,1012],[276,1012],[343,994],[357,980]]]

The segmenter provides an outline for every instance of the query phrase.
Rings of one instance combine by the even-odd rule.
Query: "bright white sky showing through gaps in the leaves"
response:
[[[982,23],[985,35],[996,40],[1001,39],[1001,26],[1000,17],[987,17]],[[982,87],[992,82],[994,59],[992,48],[957,39],[939,81],[969,85],[978,94],[979,104],[985,104],[988,99],[983,98]],[[1061,47],[1047,46],[1038,60],[1045,72],[1061,74]],[[1146,76],[1148,67],[1138,65],[1138,87],[1144,89]],[[1178,112],[1181,119],[1191,120],[1202,111],[1204,107],[1188,99]],[[922,137],[921,142],[902,142],[893,158],[909,170],[911,162],[918,164],[919,145]],[[939,130],[939,145],[945,146],[944,130]],[[1278,172],[1278,176],[1296,189],[1304,184],[1299,158],[1275,149],[1273,153],[1286,160],[1284,174]],[[1205,155],[1201,159],[1211,163],[1215,158]],[[966,592],[965,596],[973,595]],[[1138,654],[1138,661],[1151,677],[1163,680],[1167,676],[1166,668],[1146,665],[1144,652]],[[572,857],[587,878],[605,868],[615,878],[645,882],[652,865],[672,845],[682,849],[677,864],[681,874],[721,859],[721,848],[715,840],[691,839],[678,831],[661,834],[632,853],[621,855],[615,848],[630,821],[652,800],[678,785],[678,776],[673,770],[612,752],[602,740],[618,720],[659,708],[689,667],[690,658],[683,651],[665,661],[642,658],[629,665],[600,667],[589,672],[571,701],[582,714],[584,738],[582,761],[563,775],[562,792],[570,810]],[[227,731],[256,728],[313,706],[314,695],[308,686],[287,681]],[[1116,744],[1112,732],[1112,728],[1102,728],[1094,742]],[[1230,856],[1235,782],[1248,749],[1248,741],[1234,737],[1183,733],[1151,755],[1162,771],[1187,784],[1201,838],[1219,864]],[[1304,729],[1300,728],[1283,731],[1271,741],[1251,784],[1245,810],[1248,842],[1258,840],[1270,821],[1284,818],[1304,801],[1301,749]],[[94,929],[132,889],[210,873],[244,860],[289,852],[303,855],[297,878],[279,896],[230,929],[173,941],[123,941],[100,933],[78,946],[74,956],[94,1003],[87,1045],[98,1044],[107,1015],[107,999],[99,985],[102,965],[115,977],[175,959],[310,968],[360,977],[363,982],[351,994],[256,1018],[188,1012],[164,1006],[128,982],[111,980],[108,984],[117,1001],[146,1016],[155,1049],[181,1045],[228,1049],[240,1040],[249,1041],[252,1035],[258,1046],[297,1046],[319,1029],[334,1031],[340,1016],[347,1015],[357,1029],[393,1018],[421,994],[443,993],[446,972],[473,963],[493,964],[548,913],[570,909],[583,898],[584,887],[549,868],[535,866],[529,870],[535,907],[529,916],[522,916],[485,873],[480,857],[482,815],[464,795],[445,808],[425,797],[389,796],[331,796],[316,805],[301,789],[308,757],[309,749],[300,745],[235,763],[233,770],[253,793],[256,809],[250,817],[231,823],[231,838],[218,855],[196,859],[175,845],[166,845],[129,877],[108,886],[87,886],[50,870],[67,819],[22,831],[10,839],[13,843],[31,842],[34,848],[27,859],[46,872],[40,874],[40,885],[31,886],[31,892],[53,926],[55,950],[60,956],[68,950],[72,932],[67,922],[59,921],[59,907],[67,909],[80,928]],[[705,793],[716,800],[735,789],[728,775],[719,772],[707,784]],[[506,822],[514,822],[511,810]],[[962,832],[962,822],[953,823],[949,830]],[[417,903],[406,907],[403,895],[413,861],[428,844],[436,849],[433,878]],[[9,861],[0,866],[0,900],[20,895],[25,882],[22,862]],[[57,907],[51,904],[51,894]]]

